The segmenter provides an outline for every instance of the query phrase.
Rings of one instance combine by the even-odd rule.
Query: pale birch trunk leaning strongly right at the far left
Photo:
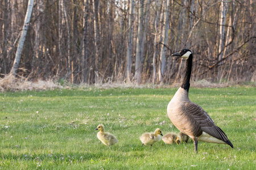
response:
[[[34,3],[34,0],[28,0],[27,12],[26,12],[26,16],[25,16],[25,19],[24,19],[22,33],[20,35],[18,48],[16,50],[16,55],[15,55],[13,67],[11,68],[11,71],[10,71],[10,74],[13,75],[13,76],[16,75],[18,67],[19,67],[19,61],[20,61],[20,56],[21,56],[21,53],[22,53],[23,44],[24,44],[24,41],[26,39],[28,26],[30,24],[30,16],[32,14],[33,3]]]

